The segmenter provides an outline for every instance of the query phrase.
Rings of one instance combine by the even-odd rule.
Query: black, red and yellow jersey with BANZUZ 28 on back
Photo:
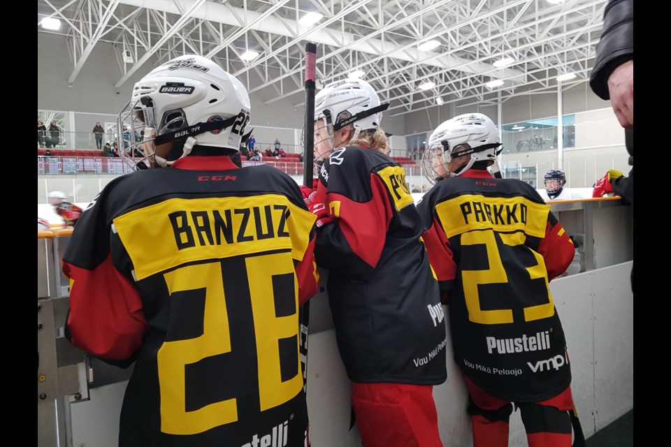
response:
[[[121,447],[303,447],[314,223],[291,177],[224,156],[117,177],[82,213],[63,258],[67,336],[135,360]]]

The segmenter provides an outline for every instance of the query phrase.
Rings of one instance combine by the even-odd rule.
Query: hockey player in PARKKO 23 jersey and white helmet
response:
[[[489,173],[501,149],[481,113],[433,131],[422,163],[435,186],[417,205],[424,241],[449,301],[473,446],[507,446],[514,403],[529,446],[568,447],[571,372],[548,282],[568,268],[574,248],[532,186]]]

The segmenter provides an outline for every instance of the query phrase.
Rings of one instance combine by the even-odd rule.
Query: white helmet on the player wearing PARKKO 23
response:
[[[496,124],[482,113],[466,113],[448,119],[428,138],[428,147],[422,155],[422,172],[429,182],[445,177],[456,177],[469,170],[476,161],[496,161],[503,146]],[[447,163],[460,156],[470,155],[468,163],[451,172]]]

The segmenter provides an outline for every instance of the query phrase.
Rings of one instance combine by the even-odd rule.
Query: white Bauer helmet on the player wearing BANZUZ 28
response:
[[[142,142],[131,140],[125,148],[120,135],[125,155],[142,145],[148,159],[168,166],[174,160],[167,158],[186,156],[194,145],[239,150],[249,122],[250,96],[243,83],[210,59],[186,54],[136,82],[117,129],[130,125],[131,135],[144,131]],[[154,154],[167,142],[184,142],[182,154]]]

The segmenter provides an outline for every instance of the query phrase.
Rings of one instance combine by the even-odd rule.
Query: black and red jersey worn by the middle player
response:
[[[349,379],[435,385],[447,378],[438,283],[403,168],[361,147],[324,162],[319,201],[332,223],[317,229],[317,263]]]

